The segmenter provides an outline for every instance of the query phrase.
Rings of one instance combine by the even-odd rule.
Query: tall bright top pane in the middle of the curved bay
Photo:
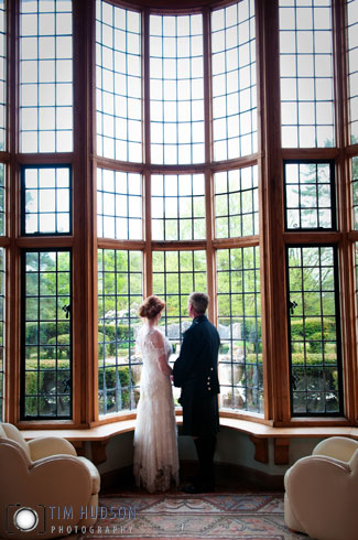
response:
[[[203,21],[150,15],[152,163],[203,163]]]

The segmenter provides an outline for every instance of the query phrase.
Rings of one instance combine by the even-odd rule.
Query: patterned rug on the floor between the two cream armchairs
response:
[[[98,521],[78,540],[299,540],[283,520],[283,495],[111,495],[100,499]],[[78,531],[79,532],[79,531]]]

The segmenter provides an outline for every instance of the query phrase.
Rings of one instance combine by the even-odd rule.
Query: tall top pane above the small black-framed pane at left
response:
[[[20,10],[21,152],[72,152],[72,1],[22,0]]]

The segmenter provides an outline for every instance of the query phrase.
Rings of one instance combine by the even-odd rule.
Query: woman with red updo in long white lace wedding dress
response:
[[[169,365],[172,347],[158,327],[165,303],[149,296],[139,310],[145,320],[137,337],[143,367],[134,431],[135,484],[148,492],[178,485],[176,421]]]

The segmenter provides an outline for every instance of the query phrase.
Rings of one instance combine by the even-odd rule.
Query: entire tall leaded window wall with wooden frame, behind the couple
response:
[[[206,291],[223,415],[355,422],[357,25],[358,0],[0,0],[4,419],[133,418],[143,298],[173,363]]]

